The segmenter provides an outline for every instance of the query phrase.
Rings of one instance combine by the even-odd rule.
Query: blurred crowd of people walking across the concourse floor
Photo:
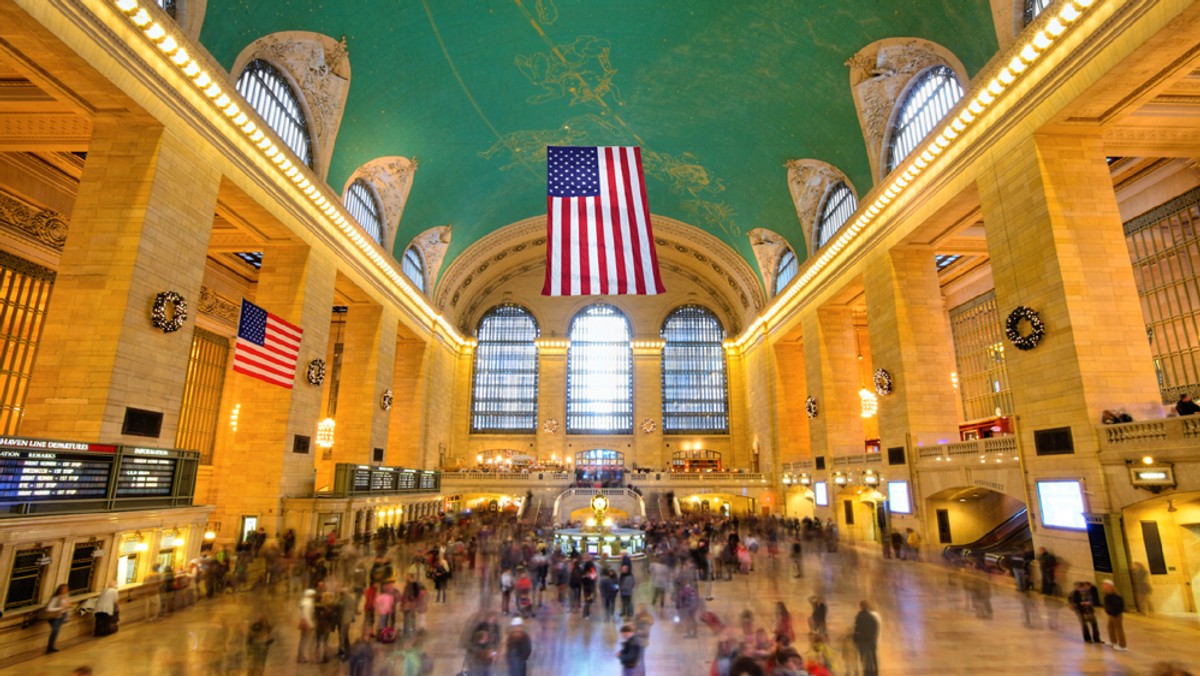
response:
[[[193,648],[212,674],[264,674],[272,645],[294,632],[288,638],[296,639],[296,663],[340,662],[354,676],[524,675],[539,650],[553,650],[539,645],[545,632],[530,626],[544,629],[564,620],[611,623],[612,668],[628,676],[647,674],[653,641],[664,640],[672,641],[672,656],[690,663],[707,654],[703,664],[712,676],[880,672],[884,618],[902,616],[902,582],[883,568],[894,563],[839,546],[834,522],[694,513],[637,527],[646,536],[646,555],[636,557],[558,549],[548,530],[515,513],[442,515],[349,542],[326,537],[298,545],[284,534],[275,543],[259,532],[235,550],[194,562],[184,572],[191,579],[182,587],[186,593],[162,578],[152,580],[163,590],[154,603],[168,615],[239,592],[254,599],[245,621],[197,633]],[[912,544],[919,550],[919,540]],[[895,557],[916,560],[908,545],[904,539]],[[1048,600],[1044,611],[1042,604],[1025,604],[1025,621],[1040,627],[1049,620],[1057,628],[1057,609],[1064,604],[1055,580],[1063,566],[1049,552],[1039,556],[1039,568],[1050,572],[1042,581]],[[748,598],[742,610],[731,610],[739,602],[730,599],[746,588],[738,582],[764,570],[770,579],[793,579],[792,592],[773,605]],[[992,579],[949,568],[947,582],[947,603],[965,603],[976,617],[992,618]],[[1097,620],[1103,611],[1106,642],[1123,651],[1124,599],[1111,582],[1102,587],[1103,593],[1086,582],[1075,585],[1066,608],[1079,616],[1091,644],[1103,641]],[[965,602],[956,600],[954,590]],[[1032,576],[1019,576],[1018,590],[1022,599],[1037,593]],[[434,664],[426,621],[452,603],[451,591],[457,603],[469,603],[464,592],[478,592],[479,610],[456,629],[461,662],[448,662],[443,636],[437,641],[440,664]],[[838,598],[827,600],[834,593]],[[722,603],[712,603],[714,596],[724,597]],[[860,600],[851,605],[848,598]],[[805,599],[805,608],[790,599]],[[55,596],[50,609],[70,610],[67,596]],[[55,620],[50,622],[53,627]],[[659,638],[664,633],[667,639]]]

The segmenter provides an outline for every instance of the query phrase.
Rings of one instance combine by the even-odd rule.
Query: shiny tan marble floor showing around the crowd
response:
[[[1039,599],[1034,627],[1027,628],[1021,598],[1006,580],[997,579],[989,587],[994,615],[982,618],[968,608],[961,580],[936,564],[882,561],[874,550],[853,548],[841,548],[836,555],[811,555],[806,561],[804,579],[793,578],[787,562],[773,566],[761,557],[750,574],[718,581],[710,592],[704,582],[701,592],[713,597],[708,609],[726,622],[736,622],[737,616],[749,609],[768,627],[779,600],[791,609],[797,627],[803,627],[809,614],[806,599],[820,592],[829,605],[830,642],[838,648],[844,646],[857,603],[870,599],[883,620],[880,663],[886,675],[1140,675],[1154,674],[1154,664],[1160,660],[1174,660],[1200,672],[1200,623],[1194,616],[1127,616],[1129,651],[1118,653],[1085,645],[1074,615],[1058,603],[1045,605]],[[449,603],[431,605],[426,618],[426,647],[434,659],[434,674],[457,674],[463,657],[460,636],[469,617],[481,608],[498,608],[498,598],[481,593],[481,588],[478,578],[458,574],[451,582]],[[648,585],[640,585],[636,600],[648,600],[649,593]],[[295,663],[296,598],[268,599],[251,593],[205,602],[157,622],[122,627],[116,635],[106,639],[66,644],[56,654],[40,656],[0,672],[65,676],[86,664],[101,676],[224,674],[210,666],[217,654],[209,646],[208,636],[222,624],[238,623],[262,611],[277,617],[277,640],[268,657],[266,674],[346,672],[346,666],[336,660]],[[1057,629],[1050,628],[1055,616],[1058,616]],[[1103,614],[1099,621],[1103,629]],[[527,621],[526,627],[534,645],[530,674],[620,674],[614,658],[617,628],[600,620],[599,614],[584,620],[553,606]],[[806,647],[804,639],[799,642]],[[703,627],[700,638],[685,638],[668,609],[654,626],[647,651],[647,674],[707,675],[715,645],[713,633]],[[379,650],[388,650],[388,646]],[[493,674],[503,675],[504,666],[498,664]],[[853,671],[844,663],[836,674],[842,676]]]

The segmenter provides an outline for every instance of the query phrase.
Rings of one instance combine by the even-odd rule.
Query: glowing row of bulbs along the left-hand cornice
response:
[[[230,94],[226,94],[224,89],[209,76],[204,66],[191,56],[186,49],[180,47],[179,41],[170,35],[162,24],[157,23],[154,17],[142,6],[138,0],[113,0],[113,5],[125,14],[130,23],[136,28],[142,30],[143,35],[150,40],[155,47],[162,52],[163,56],[179,71],[192,80],[196,89],[209,98],[212,104],[221,110],[230,121],[234,124],[235,128],[241,131],[246,139],[257,145],[263,152],[264,157],[271,160],[276,169],[284,177],[292,180],[305,197],[307,197],[318,210],[325,214],[325,217],[331,225],[337,227],[342,233],[344,233],[350,241],[354,243],[356,249],[364,253],[372,263],[374,263],[379,270],[395,283],[401,292],[408,297],[408,299],[416,305],[427,318],[433,322],[436,328],[440,328],[446,335],[449,335],[460,347],[473,347],[475,341],[469,337],[463,337],[458,335],[458,330],[454,328],[450,322],[446,321],[440,313],[438,313],[433,307],[425,301],[424,298],[412,287],[404,275],[402,275],[391,263],[385,259],[377,250],[374,243],[362,237],[358,228],[353,227],[350,220],[347,220],[342,215],[336,201],[328,199],[324,193],[316,187],[304,172],[296,169],[295,163],[283,152],[280,148],[275,145],[263,130],[258,127],[250,118],[241,110],[241,108],[234,102]],[[158,11],[156,8],[156,11]]]

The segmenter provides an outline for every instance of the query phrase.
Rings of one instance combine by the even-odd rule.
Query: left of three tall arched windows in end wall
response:
[[[479,321],[472,432],[538,431],[538,322],[520,305],[499,305]]]

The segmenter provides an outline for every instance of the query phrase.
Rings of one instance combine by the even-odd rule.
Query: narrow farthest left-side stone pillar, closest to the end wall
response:
[[[420,462],[427,352],[422,340],[396,340],[391,364],[391,389],[396,401],[388,417],[388,465],[416,467]]]

